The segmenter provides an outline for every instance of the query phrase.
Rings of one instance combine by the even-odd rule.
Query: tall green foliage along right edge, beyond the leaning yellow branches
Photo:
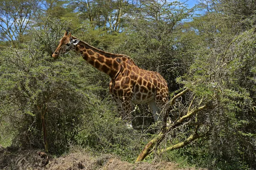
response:
[[[198,117],[204,122],[201,128],[209,128],[211,135],[203,143],[197,142],[197,150],[193,146],[179,152],[187,152],[192,164],[249,169],[255,166],[256,159],[252,142],[256,135],[254,26],[245,28],[247,19],[233,20],[233,15],[218,13],[219,6],[225,8],[218,4],[214,12],[195,20],[193,27],[206,41],[200,44],[189,73],[177,79],[211,107]]]

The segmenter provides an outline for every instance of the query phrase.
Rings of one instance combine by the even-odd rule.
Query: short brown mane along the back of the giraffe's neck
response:
[[[76,37],[74,37],[72,35],[72,39],[78,39]],[[78,39],[79,40],[79,39]],[[95,52],[98,52],[99,54],[102,54],[102,55],[105,55],[107,57],[111,57],[111,58],[116,58],[116,57],[125,57],[125,58],[128,58],[132,63],[134,63],[133,59],[131,57],[129,57],[128,55],[122,55],[122,54],[114,54],[114,53],[111,53],[111,52],[105,52],[101,49],[97,49],[96,47],[94,46],[91,46],[89,45],[88,43],[85,43],[84,41],[82,40],[79,40],[79,43],[81,43],[82,45],[84,45],[85,47],[89,48],[89,49],[92,49],[93,51]],[[136,65],[136,63],[134,63]]]

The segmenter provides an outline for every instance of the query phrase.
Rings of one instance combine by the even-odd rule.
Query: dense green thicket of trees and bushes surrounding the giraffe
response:
[[[12,12],[4,2],[0,12]],[[154,138],[157,125],[152,125],[147,106],[135,107],[134,130],[127,129],[109,95],[107,75],[73,52],[50,57],[69,29],[90,45],[129,55],[141,68],[160,72],[168,81],[170,96],[189,88],[172,107],[172,120],[207,105],[167,134],[156,151],[184,141],[195,133],[194,124],[199,124],[196,132],[206,137],[163,155],[151,153],[145,161],[158,158],[181,166],[255,169],[255,2],[204,2],[200,6],[207,12],[189,21],[195,8],[178,1],[32,4],[38,15],[33,11],[24,17],[30,20],[20,34],[0,32],[0,144],[43,148],[44,111],[49,151],[56,155],[79,145],[132,162]]]

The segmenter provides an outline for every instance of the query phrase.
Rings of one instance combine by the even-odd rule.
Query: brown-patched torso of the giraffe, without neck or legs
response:
[[[115,98],[145,104],[151,100],[168,101],[168,86],[158,73],[139,68],[129,58],[120,58],[122,68],[110,84]]]

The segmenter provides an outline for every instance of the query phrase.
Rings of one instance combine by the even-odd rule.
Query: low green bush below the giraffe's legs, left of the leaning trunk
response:
[[[108,100],[104,103],[108,103]],[[100,104],[93,108],[93,116],[84,118],[86,122],[76,135],[77,144],[88,147],[96,154],[112,153],[132,162],[145,142],[141,141],[139,131],[126,128],[121,119],[113,116],[113,106],[113,103]]]

